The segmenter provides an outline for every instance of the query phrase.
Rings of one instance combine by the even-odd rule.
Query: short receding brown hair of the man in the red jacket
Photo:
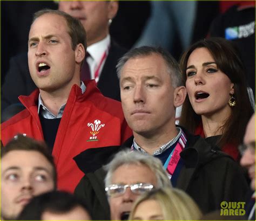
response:
[[[38,17],[46,13],[59,15],[65,18],[66,23],[68,24],[68,29],[69,29],[68,33],[71,38],[72,49],[75,50],[78,44],[83,44],[84,50],[86,51],[86,47],[87,47],[86,32],[84,30],[84,26],[82,25],[79,19],[72,17],[71,15],[69,15],[68,13],[65,13],[64,11],[43,9],[43,10],[37,11],[34,14],[32,24],[33,22],[35,22],[35,20]]]

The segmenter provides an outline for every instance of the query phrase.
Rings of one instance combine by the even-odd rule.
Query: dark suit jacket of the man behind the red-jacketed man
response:
[[[118,101],[120,101],[120,88],[116,65],[118,59],[122,57],[126,51],[126,49],[111,40],[109,54],[97,84],[97,87],[104,96]],[[29,73],[28,54],[21,53],[12,57],[10,60],[10,68],[2,87],[2,110],[12,103],[18,103],[19,95],[29,95],[36,88]]]

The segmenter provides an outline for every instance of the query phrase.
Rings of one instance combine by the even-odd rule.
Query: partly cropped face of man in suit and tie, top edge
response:
[[[78,18],[87,33],[90,46],[109,34],[110,20],[118,11],[117,1],[59,1],[59,10]]]

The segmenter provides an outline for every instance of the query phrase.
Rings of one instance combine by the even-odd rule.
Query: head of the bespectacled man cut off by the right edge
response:
[[[251,178],[251,189],[255,190],[255,114],[248,122],[244,144],[240,146],[241,165],[248,169],[248,175]]]

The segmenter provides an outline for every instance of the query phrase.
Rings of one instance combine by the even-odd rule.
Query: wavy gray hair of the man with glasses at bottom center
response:
[[[120,166],[127,164],[145,165],[150,168],[157,178],[157,188],[171,187],[170,179],[167,172],[163,168],[161,161],[151,155],[140,153],[139,151],[123,150],[117,153],[113,160],[105,165],[104,169],[107,171],[105,177],[105,186],[112,184],[112,176]]]

